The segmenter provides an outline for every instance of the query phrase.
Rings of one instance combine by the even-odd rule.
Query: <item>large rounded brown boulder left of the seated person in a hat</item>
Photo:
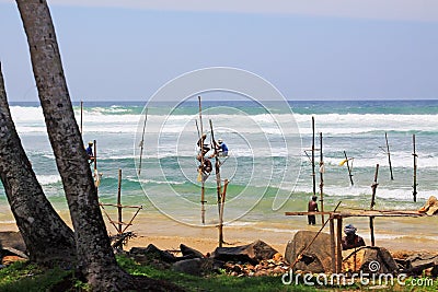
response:
[[[330,272],[332,269],[330,235],[320,233],[312,245],[308,247],[315,236],[316,232],[313,231],[297,232],[293,240],[289,241],[286,246],[285,259],[289,264],[293,264],[297,257],[302,254],[301,259],[295,266],[296,269],[310,272]]]

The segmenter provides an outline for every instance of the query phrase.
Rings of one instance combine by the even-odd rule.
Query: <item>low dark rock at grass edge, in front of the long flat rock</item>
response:
[[[172,269],[193,276],[203,276],[216,272],[222,267],[223,262],[214,260],[212,258],[191,258],[176,261],[173,264]]]

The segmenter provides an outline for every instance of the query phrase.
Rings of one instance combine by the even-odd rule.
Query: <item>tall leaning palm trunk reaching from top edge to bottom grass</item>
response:
[[[16,0],[16,3],[27,35],[48,137],[74,227],[78,268],[95,290],[123,290],[130,278],[117,266],[110,245],[47,2]]]

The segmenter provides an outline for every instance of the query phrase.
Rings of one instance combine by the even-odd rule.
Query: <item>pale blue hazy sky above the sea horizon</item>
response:
[[[438,98],[435,0],[48,1],[73,101],[146,101],[201,68],[253,72],[291,101]],[[0,0],[11,102],[36,102],[16,4]]]

